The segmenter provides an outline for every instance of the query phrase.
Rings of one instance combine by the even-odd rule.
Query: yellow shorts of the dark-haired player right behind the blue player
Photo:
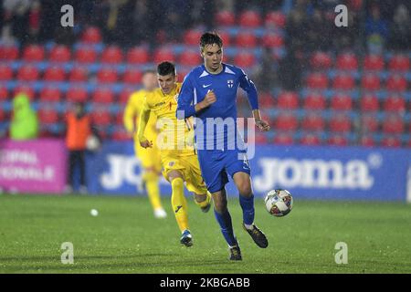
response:
[[[163,152],[162,152],[163,154]],[[179,171],[184,176],[185,187],[189,192],[207,193],[203,177],[201,176],[200,164],[197,155],[162,155],[163,177],[167,179],[171,171]]]

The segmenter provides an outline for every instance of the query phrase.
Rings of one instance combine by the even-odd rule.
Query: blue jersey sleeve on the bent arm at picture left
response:
[[[175,116],[178,120],[186,119],[195,115],[194,90],[195,88],[193,86],[193,81],[191,80],[189,74],[186,78],[184,78],[183,85],[177,99],[177,111]]]

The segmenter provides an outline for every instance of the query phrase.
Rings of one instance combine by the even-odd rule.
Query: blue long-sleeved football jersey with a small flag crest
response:
[[[247,92],[251,109],[258,110],[257,89],[241,68],[223,63],[220,73],[211,74],[202,65],[184,78],[176,115],[178,119],[195,116],[198,150],[244,150],[243,139],[237,131],[238,87]],[[195,113],[195,104],[205,99],[208,90],[214,91],[216,102]]]

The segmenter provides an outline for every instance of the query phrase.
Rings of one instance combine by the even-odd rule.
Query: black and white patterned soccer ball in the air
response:
[[[264,198],[269,214],[282,217],[289,214],[292,209],[292,196],[287,190],[271,190]]]

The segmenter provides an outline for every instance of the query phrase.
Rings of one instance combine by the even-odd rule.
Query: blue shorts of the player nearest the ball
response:
[[[228,183],[228,175],[236,172],[250,174],[247,153],[237,150],[200,150],[198,151],[201,173],[210,193],[216,193]]]

